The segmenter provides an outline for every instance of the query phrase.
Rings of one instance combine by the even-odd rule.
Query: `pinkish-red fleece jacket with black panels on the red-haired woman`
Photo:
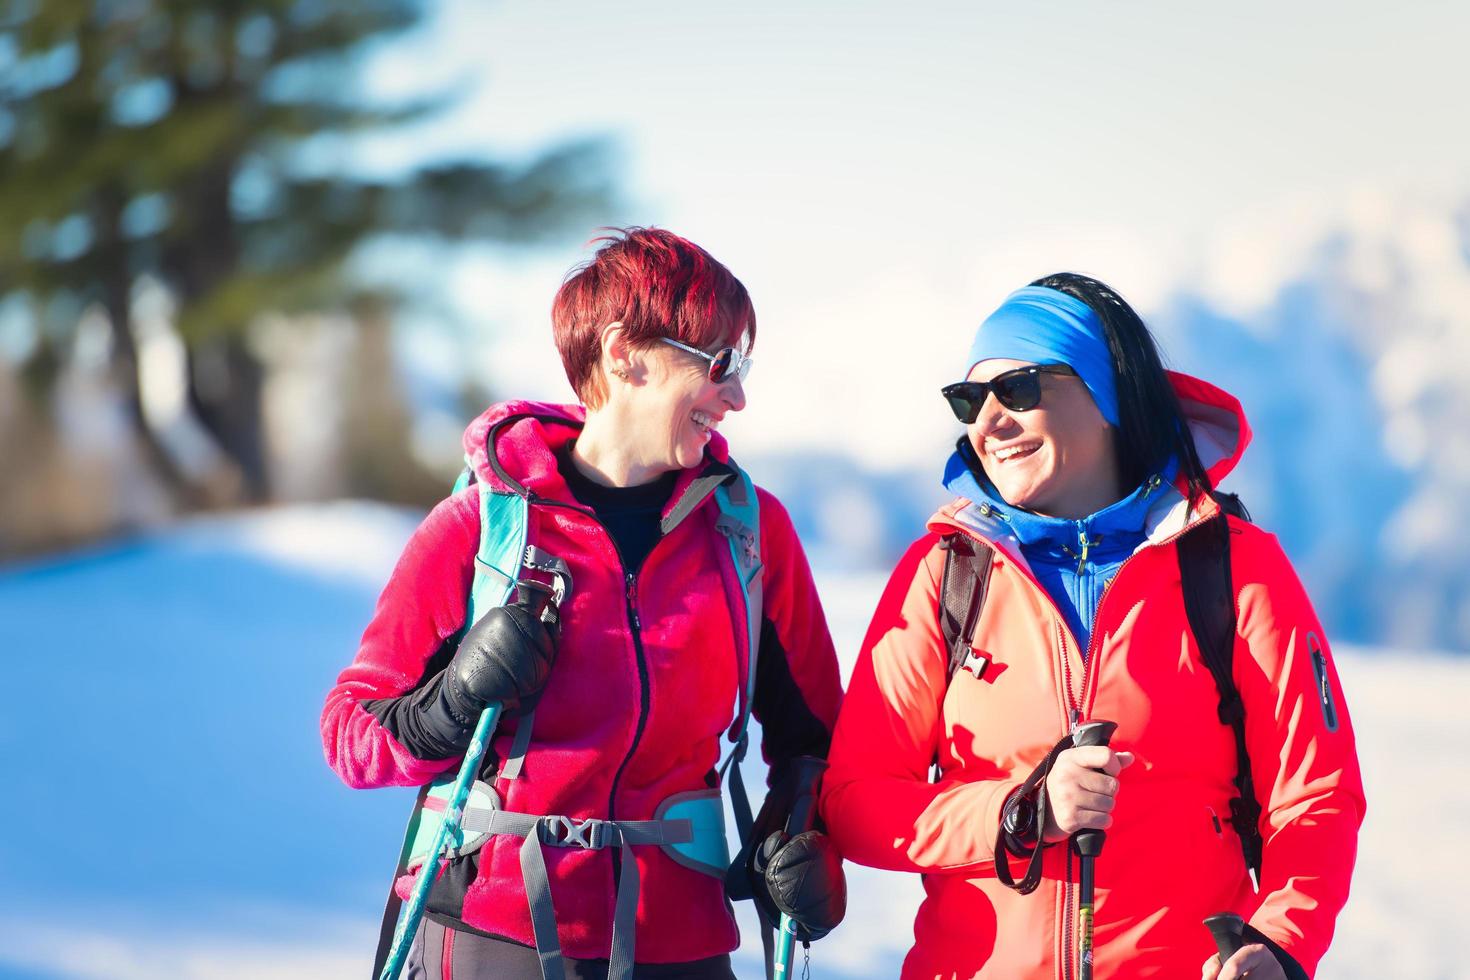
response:
[[[582,411],[562,406],[495,406],[466,432],[476,479],[506,486],[487,453],[491,426],[506,475],[539,498],[575,504],[556,450],[581,432]],[[717,435],[709,460],[723,461]],[[698,476],[686,470],[672,501]],[[760,500],[764,629],[754,714],[772,764],[825,755],[841,698],[836,657],[801,544],[785,508]],[[422,761],[384,724],[379,699],[406,695],[442,669],[463,624],[479,541],[478,491],[459,492],[425,519],[392,572],[357,657],[326,698],[322,739],[334,770],[354,788],[413,786],[457,767]],[[667,513],[667,511],[666,511]],[[736,652],[738,610],[717,504],[706,498],[653,548],[637,576],[625,574],[612,538],[582,507],[531,505],[531,542],[567,561],[575,588],[563,607],[556,667],[535,714],[525,770],[495,780],[506,810],[573,818],[648,820],[666,798],[713,785],[745,676]],[[637,629],[631,613],[637,616]],[[369,707],[365,708],[363,702]],[[495,735],[504,758],[514,721]],[[517,861],[519,837],[492,837],[456,861],[431,893],[429,909],[494,936],[531,945]],[[642,887],[639,962],[682,962],[738,945],[722,882],[676,864],[659,848],[634,848]],[[616,848],[544,848],[562,949],[603,958],[612,943]],[[390,860],[390,855],[384,855]],[[467,865],[467,867],[465,867]],[[448,884],[445,883],[448,880]],[[410,883],[400,882],[407,895]],[[457,893],[456,893],[457,892]]]

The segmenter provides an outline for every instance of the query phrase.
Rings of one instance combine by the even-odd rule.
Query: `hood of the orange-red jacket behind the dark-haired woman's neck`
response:
[[[1239,398],[1207,381],[1182,375],[1179,372],[1167,372],[1167,375],[1175,388],[1175,394],[1179,397],[1179,407],[1183,413],[1185,423],[1189,426],[1189,433],[1194,436],[1195,451],[1200,454],[1200,461],[1205,467],[1210,485],[1219,486],[1220,482],[1241,461],[1241,457],[1245,454],[1245,447],[1251,442],[1251,426],[1245,419],[1245,410],[1241,407]],[[1177,467],[1170,463],[1170,466],[1166,467],[1166,473],[1176,469]],[[992,505],[994,501],[991,501],[985,491],[976,485],[975,478],[970,475],[970,467],[966,464],[958,451],[951,454],[945,464],[944,485],[956,494],[958,500],[939,508],[939,511],[931,517],[931,529],[945,532],[956,525],[963,525],[992,539],[1014,536],[1014,529],[1010,526],[1011,522],[1000,513],[1001,510],[1011,508],[998,508]],[[1154,502],[1148,508],[1147,517],[1144,519],[1144,529],[1150,538],[1158,538],[1161,533],[1172,533],[1176,529],[1182,529],[1188,522],[1188,508],[1179,507],[1179,504],[1183,502],[1183,488],[1185,485],[1182,478],[1176,476],[1173,488],[1175,492],[1160,494],[1154,498]],[[1123,504],[1127,504],[1129,501],[1133,501],[1135,498],[1139,498],[1141,491],[1142,498],[1150,497],[1147,486],[1139,488],[1132,497],[1125,498],[1119,504],[1114,504],[1107,508],[1107,511],[1101,513],[1105,514]],[[1213,501],[1207,501],[1200,514],[1213,513]]]

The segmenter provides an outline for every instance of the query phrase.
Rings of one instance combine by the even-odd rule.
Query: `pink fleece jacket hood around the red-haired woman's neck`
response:
[[[582,406],[501,401],[465,429],[465,460],[475,479],[492,489],[570,498],[570,489],[557,469],[557,451],[581,435],[585,422],[587,408]],[[719,432],[710,435],[704,458],[729,461],[729,447]],[[675,495],[695,470],[681,475]]]

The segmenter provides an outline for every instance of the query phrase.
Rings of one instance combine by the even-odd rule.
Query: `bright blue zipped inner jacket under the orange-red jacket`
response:
[[[944,486],[956,497],[989,504],[994,516],[1016,535],[1022,555],[1086,657],[1102,592],[1144,544],[1148,511],[1158,502],[1160,489],[1170,488],[1176,470],[1170,461],[1163,473],[1082,520],[1045,517],[1007,504],[983,473],[970,472],[960,453],[945,464]]]

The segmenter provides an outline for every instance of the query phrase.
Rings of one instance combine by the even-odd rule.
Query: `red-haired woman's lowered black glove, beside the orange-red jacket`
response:
[[[756,889],[756,901],[766,908],[772,923],[781,914],[789,915],[801,942],[822,939],[847,914],[842,857],[832,837],[820,830],[795,837],[778,830],[756,848],[756,868],[766,884]]]

